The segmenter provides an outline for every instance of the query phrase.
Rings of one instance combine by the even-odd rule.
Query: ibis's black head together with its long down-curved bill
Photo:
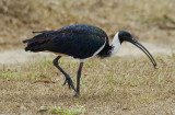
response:
[[[138,48],[140,48],[150,58],[150,60],[152,61],[154,68],[156,67],[156,62],[155,62],[154,58],[152,57],[152,55],[148,51],[148,49],[144,46],[142,46],[137,39],[135,39],[129,32],[119,31],[115,35],[115,37],[117,39],[119,39],[120,44],[122,42],[129,42],[129,43],[133,44],[135,46],[137,46]]]

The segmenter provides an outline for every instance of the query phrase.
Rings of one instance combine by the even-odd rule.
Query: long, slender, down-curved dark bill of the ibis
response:
[[[151,62],[153,64],[154,68],[156,67],[156,62],[154,60],[154,58],[152,57],[152,55],[148,51],[148,49],[142,46],[138,41],[136,41],[135,38],[130,38],[127,39],[128,42],[132,43],[135,46],[137,46],[138,48],[140,48],[151,60]]]

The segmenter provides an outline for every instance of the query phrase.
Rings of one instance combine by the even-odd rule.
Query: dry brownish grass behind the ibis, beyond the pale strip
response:
[[[22,47],[21,42],[32,37],[32,31],[58,30],[74,23],[100,26],[109,36],[128,30],[140,39],[174,38],[172,31],[159,28],[174,26],[174,0],[1,0],[0,50]]]

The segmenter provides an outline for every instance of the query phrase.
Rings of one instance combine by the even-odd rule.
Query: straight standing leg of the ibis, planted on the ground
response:
[[[81,71],[82,71],[82,68],[83,68],[83,64],[84,62],[80,62],[79,70],[78,70],[78,76],[77,76],[77,94],[75,94],[75,96],[80,95],[80,78],[81,78]]]

